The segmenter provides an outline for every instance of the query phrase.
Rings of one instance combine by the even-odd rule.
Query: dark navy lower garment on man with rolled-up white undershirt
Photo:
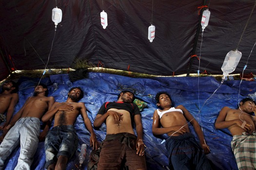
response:
[[[191,133],[171,136],[165,142],[170,170],[211,170],[201,146]]]

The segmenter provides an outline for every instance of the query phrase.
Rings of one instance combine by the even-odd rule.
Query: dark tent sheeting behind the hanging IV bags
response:
[[[201,38],[197,7],[205,4],[211,16]],[[178,75],[197,73],[199,60],[191,55],[201,53],[200,72],[222,74],[224,58],[237,48],[254,4],[255,0],[154,0],[152,13],[152,0],[57,0],[63,16],[55,32],[55,0],[1,0],[0,61],[6,62],[0,62],[0,80],[8,67],[43,69],[49,56],[47,68],[69,68],[84,59],[105,68]],[[108,14],[105,30],[102,10]],[[242,73],[256,41],[255,18],[256,10],[239,43],[242,58],[234,73]],[[152,43],[147,39],[151,24],[156,26]],[[256,74],[255,54],[256,50],[245,73]]]

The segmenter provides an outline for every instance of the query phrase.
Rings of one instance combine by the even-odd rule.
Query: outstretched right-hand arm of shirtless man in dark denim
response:
[[[92,122],[88,118],[88,115],[86,113],[86,107],[85,107],[83,102],[79,102],[79,106],[80,106],[80,113],[83,117],[84,125],[91,134],[90,146],[93,146],[93,150],[97,150],[98,147],[99,147],[99,143],[98,143],[98,140],[97,140],[96,135],[94,133]]]

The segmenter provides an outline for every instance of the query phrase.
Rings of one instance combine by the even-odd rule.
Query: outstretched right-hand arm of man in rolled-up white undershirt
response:
[[[184,117],[193,125],[195,132],[197,133],[197,136],[199,138],[200,144],[204,150],[204,153],[206,153],[206,154],[210,153],[210,148],[205,143],[202,128],[199,125],[199,123],[197,122],[197,120],[189,113],[189,111],[183,105],[179,105],[177,108],[179,108],[183,111]]]

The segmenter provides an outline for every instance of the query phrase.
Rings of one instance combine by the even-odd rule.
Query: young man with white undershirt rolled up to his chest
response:
[[[154,135],[169,136],[165,142],[169,155],[169,168],[171,170],[211,170],[203,153],[203,150],[209,153],[210,149],[205,143],[197,120],[183,105],[172,107],[172,99],[167,92],[159,92],[156,100],[157,106],[163,110],[155,110],[152,132]],[[188,123],[193,125],[201,146],[197,143],[195,136],[190,133]]]

